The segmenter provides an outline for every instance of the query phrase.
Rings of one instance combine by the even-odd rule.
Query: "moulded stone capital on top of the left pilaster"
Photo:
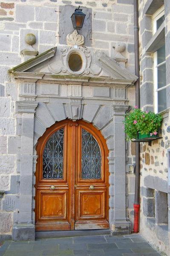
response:
[[[35,101],[18,101],[16,102],[17,113],[35,113],[38,102]]]

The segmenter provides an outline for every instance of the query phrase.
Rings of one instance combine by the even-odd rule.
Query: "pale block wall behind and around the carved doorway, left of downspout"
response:
[[[71,24],[70,17],[62,15],[68,6],[78,5],[86,9],[89,26],[92,31],[82,29],[86,43],[95,50],[101,50],[110,57],[115,56],[115,45],[126,44],[122,55],[128,59],[127,70],[134,73],[134,37],[132,0],[6,0],[0,2],[0,190],[5,195],[0,198],[0,233],[3,238],[10,238],[13,222],[17,221],[17,207],[20,189],[20,129],[21,114],[16,116],[15,102],[19,99],[19,86],[9,75],[8,70],[24,61],[20,54],[23,49],[32,49],[39,54],[58,44],[62,39],[62,22]],[[84,7],[86,6],[86,8]],[[73,8],[73,7],[72,7]],[[73,8],[73,9],[74,9]],[[85,21],[86,22],[86,21]],[[72,32],[72,26],[69,26]],[[80,33],[81,33],[80,32]],[[36,36],[33,47],[25,43],[28,33]],[[90,35],[90,36],[89,36]],[[66,35],[65,35],[66,36]],[[85,45],[86,45],[85,43]],[[129,104],[134,103],[134,87],[128,89]],[[16,118],[17,117],[17,118]],[[130,148],[130,145],[127,145]],[[132,152],[133,151],[133,152]],[[129,149],[127,163],[134,163],[134,149]],[[133,208],[134,175],[127,175],[127,208]],[[129,195],[128,195],[129,193]],[[129,203],[128,203],[129,202]],[[24,200],[23,200],[24,203]],[[130,219],[133,211],[127,209]],[[133,219],[133,218],[132,218]]]

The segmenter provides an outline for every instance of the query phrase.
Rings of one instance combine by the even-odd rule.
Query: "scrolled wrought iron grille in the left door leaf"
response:
[[[43,151],[43,179],[63,179],[64,128],[56,131]]]

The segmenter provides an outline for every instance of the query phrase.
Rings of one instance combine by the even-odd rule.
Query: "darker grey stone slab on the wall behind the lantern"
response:
[[[77,8],[77,7],[76,7]],[[75,6],[65,5],[59,7],[59,43],[66,44],[66,35],[72,33],[72,23],[70,17],[75,11]],[[84,35],[85,44],[87,47],[92,45],[92,9],[83,7],[83,12],[86,14],[83,28],[81,29],[81,35]],[[66,15],[67,14],[67,15]]]

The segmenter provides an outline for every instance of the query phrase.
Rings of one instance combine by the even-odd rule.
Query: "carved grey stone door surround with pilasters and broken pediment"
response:
[[[46,62],[43,69],[39,68],[37,71],[37,65],[52,58],[54,54],[55,50],[52,49],[51,52],[44,53],[43,59],[40,55],[40,59],[35,57],[29,63],[23,63],[11,70],[20,88],[16,102],[17,136],[20,138],[17,155],[20,192],[18,209],[14,216],[13,239],[35,239],[34,174],[38,157],[35,150],[37,140],[46,128],[66,118],[91,122],[106,139],[109,149],[110,231],[115,235],[129,233],[122,121],[129,108],[127,86],[133,84],[136,77],[127,70],[122,70],[104,54],[97,56],[100,75],[96,73],[90,76],[83,74],[81,77],[67,77],[65,74],[46,74],[43,73],[43,69],[48,66]],[[84,93],[89,88],[92,94]]]

